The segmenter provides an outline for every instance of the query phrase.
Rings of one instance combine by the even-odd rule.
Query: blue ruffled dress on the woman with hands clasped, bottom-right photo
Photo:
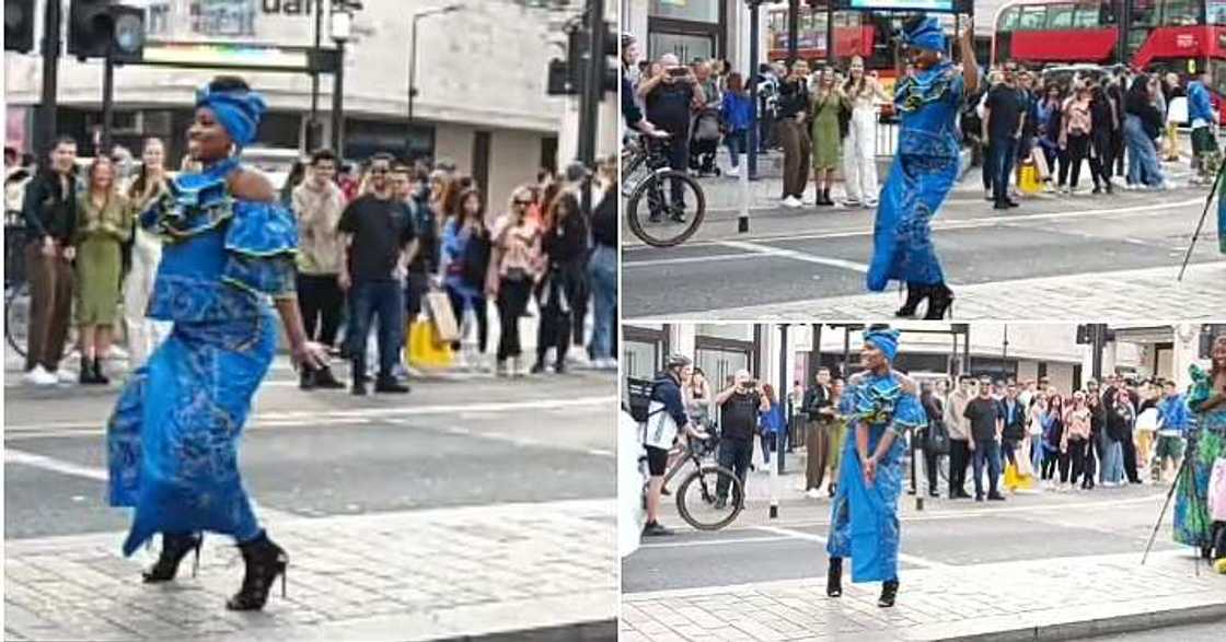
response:
[[[920,398],[902,390],[897,375],[864,374],[852,377],[843,393],[841,412],[850,417],[839,467],[839,491],[830,518],[826,553],[851,557],[852,582],[885,582],[899,577],[899,495],[902,493],[902,459],[907,428],[922,428],[928,418]],[[856,430],[868,426],[868,452],[877,451],[888,431],[896,435],[877,464],[873,485],[856,451]]]

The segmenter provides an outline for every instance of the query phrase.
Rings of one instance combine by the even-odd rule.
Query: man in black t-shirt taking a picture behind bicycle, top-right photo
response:
[[[668,167],[685,172],[689,167],[690,111],[694,105],[706,103],[706,97],[693,70],[682,66],[676,55],[660,56],[660,74],[639,83],[639,96],[647,107],[647,120],[671,136]],[[672,201],[678,206],[678,212],[673,216],[680,219],[684,192],[679,180],[672,184]],[[658,213],[652,212],[651,216],[656,217]]]

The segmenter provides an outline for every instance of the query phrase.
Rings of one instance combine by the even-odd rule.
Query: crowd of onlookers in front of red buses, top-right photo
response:
[[[1211,183],[1216,175],[1219,119],[1206,67],[1182,77],[1123,67],[1043,75],[1007,62],[984,74],[981,89],[964,97],[959,135],[982,167],[984,196],[997,210],[1018,207],[1019,197],[1034,191],[1172,189],[1176,184],[1162,163],[1181,158],[1183,126],[1190,127],[1192,183]],[[624,110],[639,109],[640,123],[671,135],[673,169],[718,175],[716,149],[722,141],[729,152],[725,173],[738,175],[754,124],[749,88],[755,85],[759,152],[783,152],[781,205],[832,206],[837,176],[841,205],[875,207],[877,127],[894,110],[863,59],[853,58],[845,67],[803,59],[764,62],[756,75],[747,76],[725,60],[683,65],[663,54],[640,61],[638,45],[626,36],[623,75],[623,92],[629,89],[635,102],[631,107],[623,96]],[[815,196],[804,200],[809,180]]]

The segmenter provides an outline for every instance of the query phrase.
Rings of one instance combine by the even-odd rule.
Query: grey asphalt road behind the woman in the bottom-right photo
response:
[[[916,512],[915,500],[904,495],[900,570],[1129,551],[1139,560],[1163,499],[1165,488],[1146,485],[1013,496],[1003,504],[929,500],[923,512]],[[639,593],[824,576],[829,513],[829,500],[817,500],[807,507],[781,508],[787,519],[781,517],[779,524],[750,518],[715,533],[679,531],[646,540],[623,560],[622,589]],[[666,517],[679,522],[673,515]],[[1168,511],[1167,524],[1170,519]],[[1175,548],[1170,526],[1163,526],[1154,550]]]

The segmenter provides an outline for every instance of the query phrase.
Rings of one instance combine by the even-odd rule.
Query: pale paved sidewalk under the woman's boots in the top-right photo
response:
[[[1216,243],[1201,239],[1201,243]],[[1181,319],[1221,319],[1222,283],[1226,261],[1188,266],[1183,282],[1177,282],[1179,265],[1145,270],[1127,270],[1101,274],[1042,277],[1000,281],[976,285],[950,283],[955,293],[953,316],[958,320],[1025,319],[1114,321],[1167,319],[1172,300],[1178,300]],[[1154,296],[1162,292],[1162,298]],[[747,320],[810,321],[813,319],[886,319],[901,304],[900,294],[856,294],[825,299],[794,300],[777,304],[726,308],[669,315],[672,320]]]

